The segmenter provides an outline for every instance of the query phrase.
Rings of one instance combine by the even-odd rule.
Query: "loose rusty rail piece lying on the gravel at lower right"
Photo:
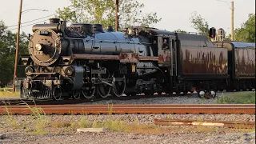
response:
[[[155,118],[154,124],[162,126],[226,126],[230,128],[250,129],[255,127],[255,122],[226,122],[206,120],[184,120]]]

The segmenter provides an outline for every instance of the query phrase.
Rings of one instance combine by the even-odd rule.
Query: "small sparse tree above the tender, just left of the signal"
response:
[[[195,30],[198,30],[199,34],[209,35],[209,25],[208,22],[205,22],[205,19],[201,17],[200,14],[197,14],[196,11],[192,13],[190,22],[193,24]]]

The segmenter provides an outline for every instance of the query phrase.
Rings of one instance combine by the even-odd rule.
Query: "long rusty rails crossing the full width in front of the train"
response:
[[[0,106],[0,114],[255,114],[254,104]]]

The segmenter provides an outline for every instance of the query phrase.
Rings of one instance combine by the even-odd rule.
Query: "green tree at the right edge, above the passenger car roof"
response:
[[[255,42],[255,14],[250,14],[241,28],[234,30],[234,39],[239,42]]]

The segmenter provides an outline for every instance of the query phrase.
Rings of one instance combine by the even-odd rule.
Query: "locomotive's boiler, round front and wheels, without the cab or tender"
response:
[[[92,98],[95,92],[102,98],[162,92],[162,79],[155,75],[162,71],[158,59],[152,61],[149,39],[138,31],[125,34],[84,23],[66,27],[58,18],[32,30],[30,55],[22,57],[22,97],[60,100],[70,94]]]

